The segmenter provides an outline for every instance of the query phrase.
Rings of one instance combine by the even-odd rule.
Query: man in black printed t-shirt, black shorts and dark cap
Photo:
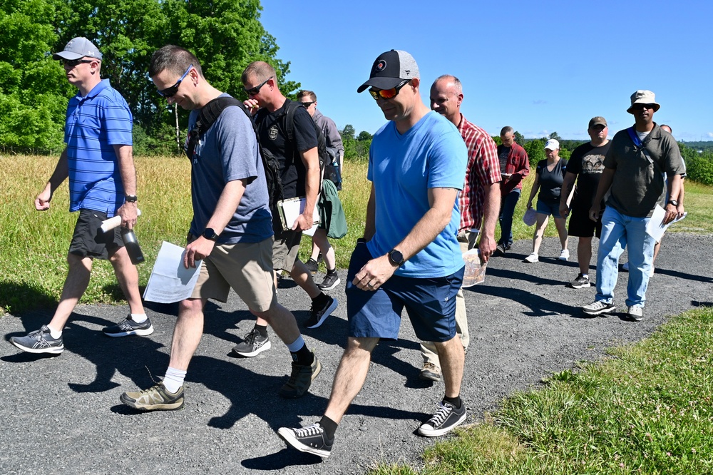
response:
[[[570,195],[575,178],[577,191],[572,200],[572,217],[570,218],[569,235],[578,236],[577,260],[579,261],[580,274],[569,283],[574,289],[589,287],[589,264],[592,259],[592,237],[602,234],[601,218],[596,222],[589,219],[589,210],[597,195],[599,179],[604,170],[604,158],[609,151],[607,139],[607,121],[603,117],[594,117],[589,121],[587,133],[591,140],[575,148],[567,165],[567,173],[562,183],[560,195],[560,216],[566,218],[570,212],[566,197]],[[602,208],[604,205],[602,204]]]

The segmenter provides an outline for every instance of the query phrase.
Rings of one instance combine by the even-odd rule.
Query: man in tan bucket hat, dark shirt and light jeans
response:
[[[677,218],[679,203],[674,197],[679,197],[681,174],[686,172],[678,143],[654,122],[659,108],[651,91],[633,93],[627,112],[634,116],[635,124],[617,132],[604,158],[604,171],[589,212],[593,221],[601,215],[602,237],[597,257],[597,295],[594,302],[582,307],[587,315],[615,312],[612,301],[619,256],[628,247],[627,316],[637,322],[643,318],[656,242],[646,232],[646,226],[657,205],[665,209],[663,223]],[[668,178],[669,199],[664,174]],[[607,190],[611,195],[602,214],[601,202]]]

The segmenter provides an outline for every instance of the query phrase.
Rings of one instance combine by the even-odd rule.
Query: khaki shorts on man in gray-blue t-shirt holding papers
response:
[[[226,302],[232,287],[250,310],[265,312],[277,303],[272,275],[272,237],[260,242],[216,244],[203,260],[190,297]]]

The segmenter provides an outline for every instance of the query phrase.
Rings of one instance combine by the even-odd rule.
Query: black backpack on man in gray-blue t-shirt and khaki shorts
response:
[[[274,210],[277,202],[282,200],[282,179],[279,176],[279,162],[277,158],[272,155],[270,150],[262,148],[262,145],[260,145],[260,137],[257,136],[257,126],[252,118],[252,114],[247,110],[245,104],[236,98],[220,96],[203,106],[198,114],[198,120],[195,121],[195,128],[188,134],[186,155],[193,160],[193,150],[195,150],[195,145],[198,143],[200,134],[205,133],[220,116],[223,109],[228,106],[237,106],[240,108],[247,118],[250,119],[250,123],[252,123],[252,130],[255,132],[255,141],[257,141],[257,150],[260,151],[262,166],[265,168],[265,180],[267,181],[267,195],[270,198],[270,209]]]

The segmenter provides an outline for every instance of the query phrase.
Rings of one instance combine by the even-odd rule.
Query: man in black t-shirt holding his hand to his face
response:
[[[244,103],[255,117],[260,145],[270,150],[279,162],[283,198],[306,198],[304,212],[297,217],[292,230],[283,231],[277,210],[272,210],[272,228],[275,230],[272,268],[275,272],[289,272],[292,280],[307,292],[312,299],[312,310],[304,325],[316,328],[334,312],[338,304],[336,299],[319,290],[312,280],[312,274],[297,257],[302,231],[312,228],[314,223],[314,210],[319,195],[319,153],[314,122],[304,107],[299,106],[294,112],[292,123],[294,137],[289,140],[286,113],[291,101],[279,91],[277,73],[270,64],[254,61],[247,65],[242,72],[242,84],[248,96]],[[255,328],[238,345],[239,351],[234,351],[252,357],[269,348],[270,345],[266,345],[268,341],[267,322],[258,318]]]

